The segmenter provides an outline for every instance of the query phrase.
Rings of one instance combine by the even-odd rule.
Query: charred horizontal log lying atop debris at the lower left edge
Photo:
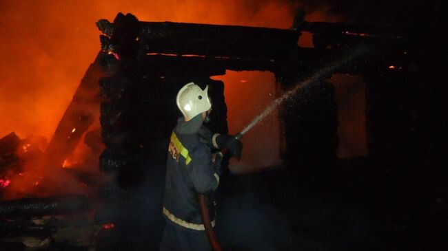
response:
[[[66,215],[74,212],[85,212],[89,209],[88,199],[83,195],[15,199],[0,201],[0,218]]]

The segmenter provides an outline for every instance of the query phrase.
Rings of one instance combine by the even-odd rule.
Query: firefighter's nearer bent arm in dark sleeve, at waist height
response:
[[[190,163],[190,179],[197,193],[212,193],[219,184],[219,166],[212,162],[212,154],[208,149],[198,147],[192,153],[192,162]],[[221,159],[218,160],[221,163]]]

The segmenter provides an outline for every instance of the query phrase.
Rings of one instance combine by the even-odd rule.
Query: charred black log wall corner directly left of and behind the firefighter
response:
[[[134,16],[119,14],[112,34],[101,37],[105,69],[112,70],[110,76],[99,81],[102,140],[106,146],[100,168],[114,178],[99,191],[103,208],[96,211],[95,219],[96,223],[114,223],[116,227],[108,234],[117,235],[99,239],[105,250],[116,250],[117,245],[125,245],[120,247],[124,250],[135,249],[136,245],[139,250],[159,248],[166,150],[170,133],[181,117],[175,100],[183,85],[210,85],[215,112],[207,126],[214,132],[227,133],[224,85],[210,79],[225,74],[225,69],[201,58],[147,55],[137,32],[140,28]],[[130,238],[130,229],[145,239],[123,241]]]

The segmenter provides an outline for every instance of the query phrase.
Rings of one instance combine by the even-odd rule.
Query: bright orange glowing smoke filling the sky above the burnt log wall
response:
[[[0,135],[50,138],[99,51],[95,22],[140,20],[289,28],[287,1],[1,1]]]

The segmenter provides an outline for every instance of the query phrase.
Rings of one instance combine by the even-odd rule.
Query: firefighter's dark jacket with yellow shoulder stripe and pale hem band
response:
[[[202,123],[201,114],[188,122],[179,118],[168,147],[163,215],[168,223],[190,230],[204,230],[198,193],[209,195],[208,208],[214,226],[212,193],[221,174],[220,162],[212,162],[212,133]]]

